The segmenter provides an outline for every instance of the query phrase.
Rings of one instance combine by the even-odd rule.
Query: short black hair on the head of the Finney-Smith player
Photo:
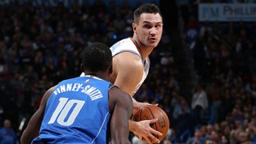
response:
[[[90,44],[84,50],[82,65],[84,70],[89,70],[90,72],[108,69],[112,65],[110,47],[101,42]]]

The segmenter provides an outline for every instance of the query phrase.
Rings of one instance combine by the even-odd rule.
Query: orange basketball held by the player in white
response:
[[[134,114],[132,117],[132,119],[136,122],[154,118],[158,118],[158,122],[152,123],[150,126],[154,130],[158,130],[160,133],[162,133],[161,137],[156,136],[161,141],[166,137],[170,126],[169,118],[164,110],[158,106],[148,105],[142,107],[141,110],[138,110],[138,112],[136,112],[136,114]]]

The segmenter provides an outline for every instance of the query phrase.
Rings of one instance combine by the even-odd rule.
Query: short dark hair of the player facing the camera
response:
[[[149,14],[160,14],[162,17],[161,11],[158,6],[154,3],[144,3],[142,6],[139,6],[138,9],[134,11],[134,22],[137,23],[141,14],[149,13]]]

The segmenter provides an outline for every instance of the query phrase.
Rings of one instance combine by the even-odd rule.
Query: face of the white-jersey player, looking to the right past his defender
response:
[[[138,41],[149,47],[156,47],[162,37],[162,17],[160,14],[141,14],[135,33]]]

